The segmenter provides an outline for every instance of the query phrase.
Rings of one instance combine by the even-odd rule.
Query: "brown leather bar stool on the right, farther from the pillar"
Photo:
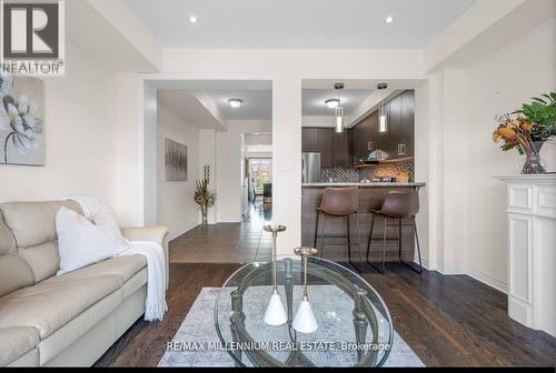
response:
[[[369,210],[373,214],[373,219],[370,221],[370,233],[369,241],[367,244],[367,258],[366,261],[370,266],[376,269],[378,272],[384,273],[385,270],[385,261],[386,261],[386,221],[388,218],[398,220],[398,248],[399,248],[399,261],[405,265],[409,266],[417,273],[423,272],[423,263],[420,259],[420,248],[419,248],[419,235],[417,234],[417,225],[415,224],[415,215],[419,212],[419,194],[417,191],[411,190],[408,192],[397,192],[391,191],[386,195],[386,199],[383,202],[383,206],[379,211]],[[383,268],[379,270],[369,261],[369,252],[370,252],[370,241],[373,240],[373,228],[375,225],[375,216],[380,215],[384,218],[384,234],[383,234]],[[417,253],[419,256],[419,269],[416,270],[411,264],[407,263],[401,259],[401,219],[411,219],[411,228],[415,233],[415,239],[417,241]],[[396,240],[396,239],[395,239]]]

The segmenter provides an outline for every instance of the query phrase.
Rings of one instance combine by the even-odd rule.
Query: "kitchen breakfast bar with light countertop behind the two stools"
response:
[[[383,201],[390,191],[419,190],[425,186],[421,182],[316,182],[302,183],[301,198],[301,242],[304,245],[314,245],[315,226],[317,212],[316,208],[320,205],[322,190],[325,188],[347,188],[357,186],[359,189],[359,231],[361,242],[361,253],[365,261],[367,251],[367,242],[370,231],[371,214],[369,209],[379,210]],[[357,243],[357,224],[355,215],[351,216],[351,243]],[[386,242],[386,260],[397,261],[399,259],[398,241],[399,234],[398,221],[388,219],[387,221],[387,242]],[[347,239],[346,239],[347,221],[346,218],[336,218],[326,215],[320,220],[319,240],[317,249],[319,254],[324,249],[324,258],[344,262],[347,261]],[[383,234],[384,221],[381,218],[376,218],[375,228],[373,231],[373,243],[369,260],[381,260],[383,253]],[[322,239],[326,235],[326,239]],[[376,240],[376,241],[375,241]],[[322,244],[324,248],[322,248]],[[410,220],[401,220],[401,256],[406,261],[413,261],[415,254],[415,242],[411,239]],[[358,251],[357,245],[351,246],[351,259],[357,262]]]

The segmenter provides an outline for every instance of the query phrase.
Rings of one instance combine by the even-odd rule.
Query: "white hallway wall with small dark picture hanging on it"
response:
[[[188,180],[166,181],[165,139],[187,147]],[[158,101],[157,110],[157,222],[167,225],[169,238],[176,238],[199,223],[199,209],[193,201],[199,179],[199,130]]]

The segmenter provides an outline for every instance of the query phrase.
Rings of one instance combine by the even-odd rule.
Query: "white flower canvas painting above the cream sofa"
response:
[[[0,74],[0,164],[44,165],[44,84]]]

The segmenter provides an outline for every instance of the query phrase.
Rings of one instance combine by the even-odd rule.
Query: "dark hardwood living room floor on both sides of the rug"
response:
[[[237,268],[172,263],[165,320],[138,321],[97,366],[156,366],[199,291],[221,285]],[[469,276],[419,275],[398,264],[389,264],[386,274],[367,268],[364,276],[385,300],[396,331],[427,366],[556,364],[556,340],[510,320],[506,295]]]

